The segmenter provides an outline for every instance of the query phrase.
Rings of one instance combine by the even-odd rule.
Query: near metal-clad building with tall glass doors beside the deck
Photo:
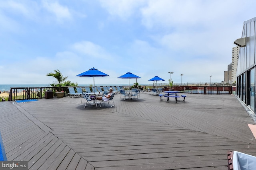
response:
[[[242,37],[234,44],[240,47],[236,69],[236,95],[255,113],[255,22],[256,17],[244,21]]]

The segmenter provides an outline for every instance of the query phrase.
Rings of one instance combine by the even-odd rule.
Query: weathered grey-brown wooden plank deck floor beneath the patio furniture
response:
[[[31,170],[227,170],[228,150],[256,156],[247,125],[255,123],[235,96],[186,95],[184,103],[115,95],[112,108],[67,97],[0,102],[7,159]]]

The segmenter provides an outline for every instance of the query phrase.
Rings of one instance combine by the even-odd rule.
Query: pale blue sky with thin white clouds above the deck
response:
[[[130,71],[152,83],[221,82],[254,0],[0,0],[0,84],[50,84],[90,68],[125,84]],[[131,84],[135,82],[131,80]],[[159,83],[159,82],[158,82]]]

